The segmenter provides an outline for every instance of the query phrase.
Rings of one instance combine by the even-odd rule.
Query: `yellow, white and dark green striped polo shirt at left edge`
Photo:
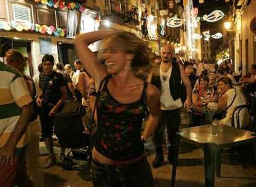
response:
[[[19,71],[0,62],[0,148],[4,146],[19,121],[22,107],[32,102],[27,85]],[[22,148],[28,142],[26,131],[17,143]]]

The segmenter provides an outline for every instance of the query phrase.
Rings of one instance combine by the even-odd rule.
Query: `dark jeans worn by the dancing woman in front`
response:
[[[153,187],[154,181],[147,158],[129,165],[114,166],[92,161],[94,187]]]

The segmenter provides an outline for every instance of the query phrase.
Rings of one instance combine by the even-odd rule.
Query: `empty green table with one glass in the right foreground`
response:
[[[254,143],[255,146],[256,135],[254,132],[227,125],[224,125],[223,131],[218,132],[218,135],[211,134],[211,125],[181,129],[180,132],[177,132],[176,136],[177,146],[172,162],[172,187],[175,185],[179,143],[181,140],[203,149],[205,159],[205,186],[213,187],[215,186],[215,173],[218,177],[220,177],[221,173],[221,149],[248,143]]]

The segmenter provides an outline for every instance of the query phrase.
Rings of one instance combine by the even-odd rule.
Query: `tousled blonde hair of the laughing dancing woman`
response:
[[[102,44],[101,50],[104,53],[110,45],[119,47],[122,52],[134,55],[131,62],[131,68],[134,73],[139,71],[150,71],[151,68],[151,49],[145,42],[133,33],[120,31],[106,37]]]

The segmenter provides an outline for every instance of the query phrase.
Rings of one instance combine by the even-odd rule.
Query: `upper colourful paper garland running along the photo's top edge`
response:
[[[41,2],[49,7],[54,7],[54,9],[69,9],[69,10],[79,10],[80,12],[85,11],[85,7],[76,2],[64,2],[62,0],[34,0],[35,2]],[[85,1],[86,2],[86,1]]]

